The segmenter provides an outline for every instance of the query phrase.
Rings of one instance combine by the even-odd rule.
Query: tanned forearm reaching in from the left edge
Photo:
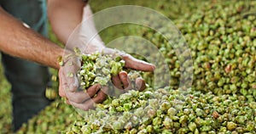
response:
[[[63,49],[22,25],[0,7],[0,50],[21,59],[59,69]]]

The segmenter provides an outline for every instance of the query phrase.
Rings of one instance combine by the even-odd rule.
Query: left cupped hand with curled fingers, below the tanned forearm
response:
[[[96,84],[86,90],[79,90],[76,73],[80,67],[81,61],[76,56],[69,55],[64,59],[64,64],[59,70],[59,94],[61,97],[67,98],[67,103],[74,107],[88,110],[94,107],[94,103],[102,103],[106,99],[108,87]]]

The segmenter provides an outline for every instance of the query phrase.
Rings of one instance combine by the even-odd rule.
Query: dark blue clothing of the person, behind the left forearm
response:
[[[30,25],[34,31],[47,36],[47,12],[44,0],[0,0],[0,4],[9,14]],[[44,97],[49,82],[49,70],[42,65],[16,59],[4,53],[2,53],[2,61],[4,73],[12,85],[13,125],[16,131],[22,123],[50,103]]]

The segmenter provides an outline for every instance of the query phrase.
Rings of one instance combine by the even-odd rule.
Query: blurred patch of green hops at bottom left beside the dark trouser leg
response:
[[[24,123],[15,133],[61,133],[75,120],[82,120],[82,117],[71,105],[58,99]]]

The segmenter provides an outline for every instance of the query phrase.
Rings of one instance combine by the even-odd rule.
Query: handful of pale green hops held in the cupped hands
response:
[[[118,75],[125,61],[120,57],[113,58],[112,55],[102,53],[84,54],[79,53],[82,60],[81,69],[78,72],[80,86],[86,89],[96,83],[107,86],[111,76]]]

